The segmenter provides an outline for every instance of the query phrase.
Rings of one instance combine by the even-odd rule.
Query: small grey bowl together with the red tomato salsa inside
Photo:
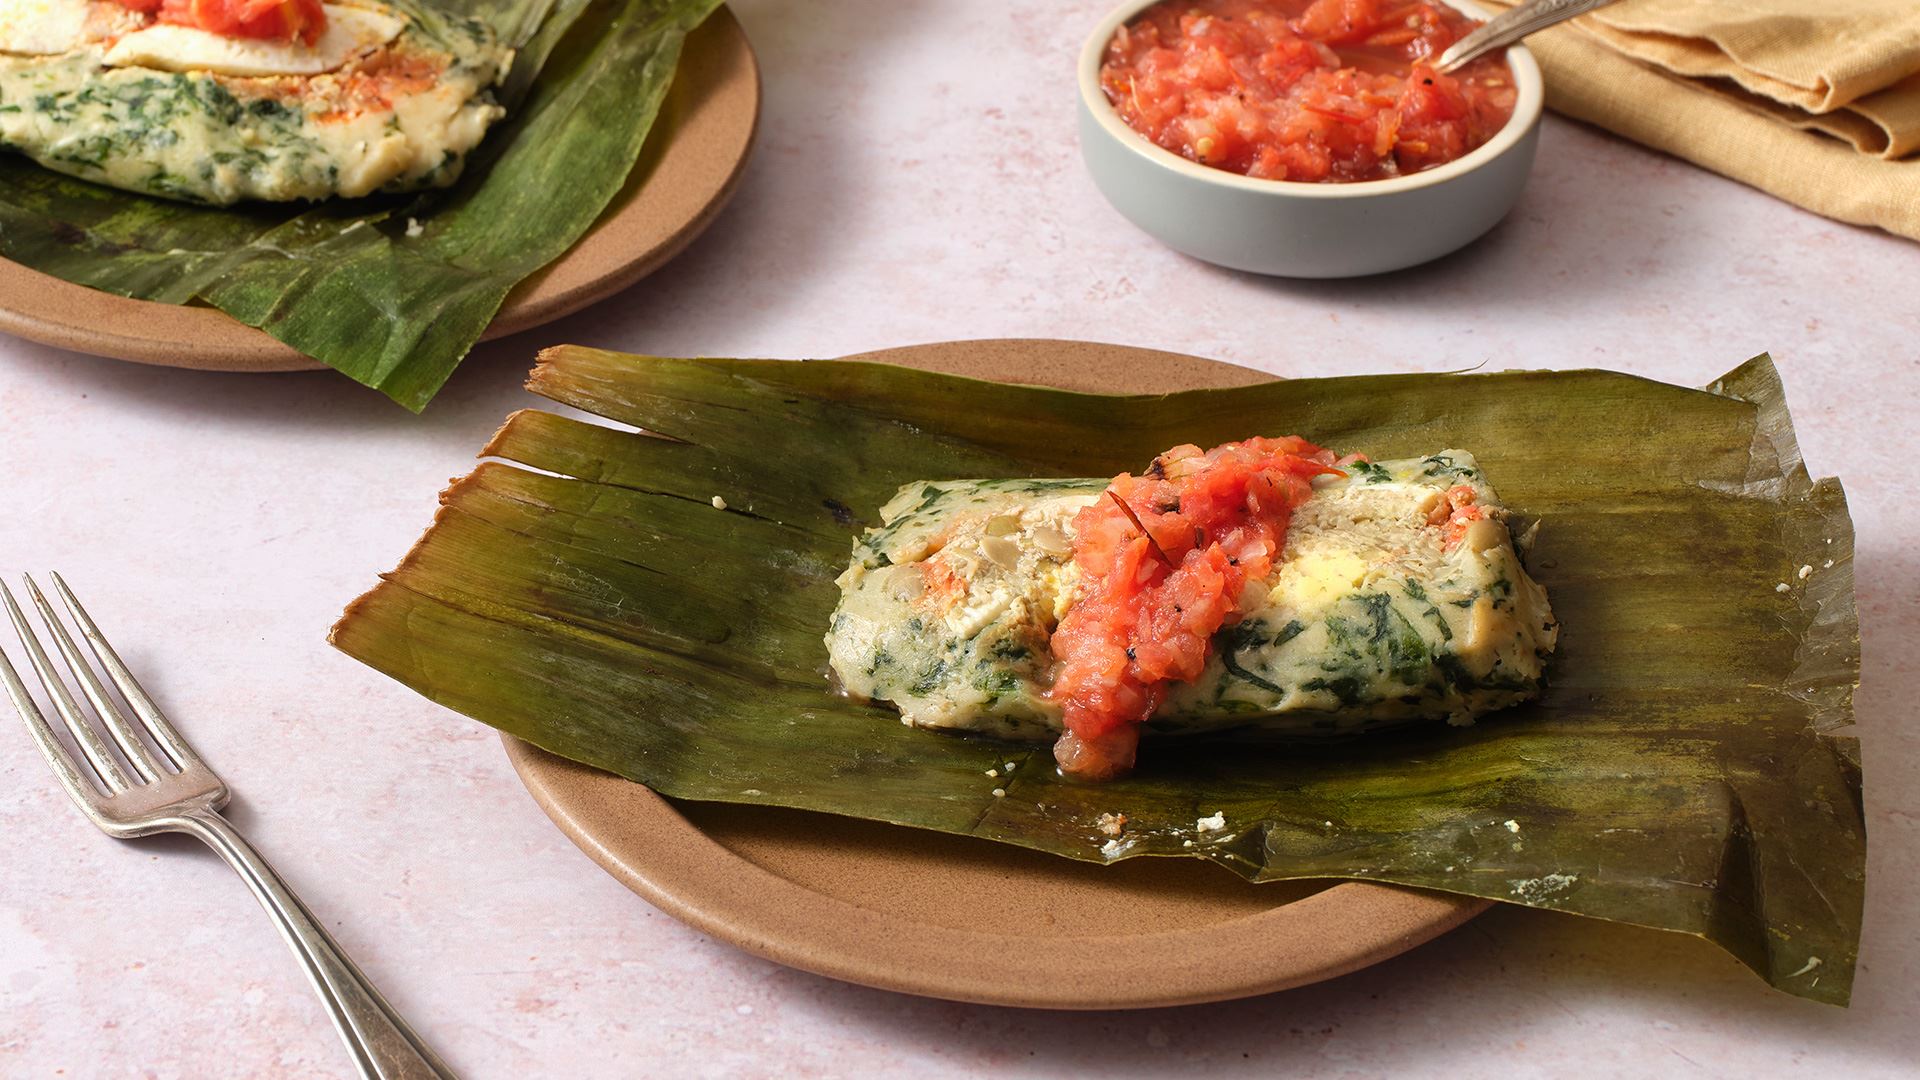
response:
[[[1453,252],[1519,202],[1540,136],[1523,46],[1442,75],[1467,0],[1129,0],[1079,58],[1081,156],[1135,225],[1279,277]]]

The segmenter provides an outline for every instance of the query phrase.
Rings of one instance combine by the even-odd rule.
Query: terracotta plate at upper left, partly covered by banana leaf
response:
[[[726,8],[687,35],[639,163],[607,213],[507,296],[482,340],[570,315],[680,254],[739,184],[760,117],[760,69]],[[213,307],[127,300],[0,259],[0,331],[50,346],[205,371],[321,363]]]

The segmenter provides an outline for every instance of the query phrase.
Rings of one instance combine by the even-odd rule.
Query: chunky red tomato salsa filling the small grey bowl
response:
[[[1164,0],[1108,44],[1100,86],[1190,161],[1269,181],[1379,181],[1444,165],[1513,115],[1507,61],[1432,61],[1478,23],[1436,2]]]

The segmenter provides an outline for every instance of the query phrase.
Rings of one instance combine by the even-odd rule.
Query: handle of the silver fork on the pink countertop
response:
[[[275,926],[300,957],[313,990],[326,1003],[326,1013],[340,1028],[340,1038],[346,1040],[361,1076],[453,1080],[453,1070],[413,1034],[407,1020],[380,997],[372,982],[367,982],[346,949],[326,934],[321,920],[225,817],[211,809],[192,811],[180,815],[175,828],[198,836],[219,851],[253,890],[253,899],[273,915]]]

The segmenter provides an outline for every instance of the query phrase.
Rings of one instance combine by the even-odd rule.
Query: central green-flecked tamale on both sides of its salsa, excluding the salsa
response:
[[[1363,461],[1313,486],[1273,577],[1215,634],[1200,678],[1171,688],[1150,734],[1465,724],[1540,690],[1553,613],[1471,454]],[[1430,519],[1455,486],[1496,515],[1448,546]],[[891,701],[908,724],[1060,734],[1048,638],[1077,596],[1073,517],[1104,488],[902,486],[837,578],[826,644],[841,686]]]

